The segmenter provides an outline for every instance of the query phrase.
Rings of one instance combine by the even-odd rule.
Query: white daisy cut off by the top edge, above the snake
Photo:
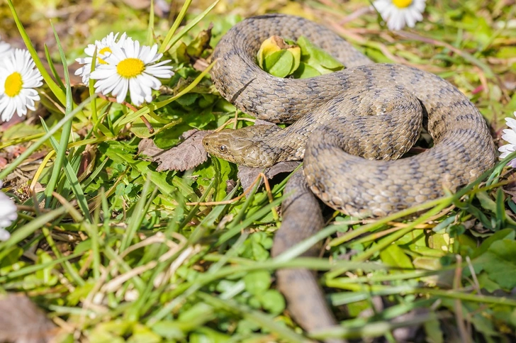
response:
[[[376,0],[373,6],[387,22],[389,30],[401,30],[408,26],[413,28],[417,21],[422,21],[426,0]]]

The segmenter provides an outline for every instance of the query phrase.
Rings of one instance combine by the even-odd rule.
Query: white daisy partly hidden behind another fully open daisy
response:
[[[97,63],[95,64],[95,69],[99,67],[99,64],[106,64],[104,57],[106,55],[111,54],[111,47],[116,43],[123,44],[125,40],[132,41],[133,38],[128,37],[125,32],[120,35],[120,39],[117,41],[116,38],[120,33],[110,33],[106,35],[106,37],[102,38],[102,40],[96,40],[95,44],[89,44],[86,49],[84,49],[84,53],[88,55],[85,58],[77,58],[76,61],[80,64],[84,64],[82,67],[75,71],[76,75],[80,75],[82,77],[82,82],[87,84],[89,81],[89,73],[91,71],[91,61],[93,60],[93,55],[95,52],[95,48],[97,50]]]

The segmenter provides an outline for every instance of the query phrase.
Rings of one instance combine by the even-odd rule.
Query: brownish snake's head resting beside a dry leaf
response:
[[[267,128],[261,128],[261,127]],[[222,130],[203,138],[203,147],[212,157],[247,167],[270,167],[276,163],[264,153],[262,134],[275,125],[254,125],[238,130]],[[266,130],[264,130],[266,129]]]

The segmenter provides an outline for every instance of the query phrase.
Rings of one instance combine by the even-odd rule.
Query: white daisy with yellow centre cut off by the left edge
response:
[[[25,116],[27,108],[35,110],[34,102],[40,100],[36,87],[43,85],[38,69],[27,50],[16,49],[0,64],[0,115],[9,121],[14,113]]]

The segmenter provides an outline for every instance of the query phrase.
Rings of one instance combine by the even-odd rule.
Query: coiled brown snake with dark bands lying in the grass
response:
[[[257,65],[267,38],[304,36],[345,68],[308,79],[279,78]],[[272,256],[324,226],[321,203],[379,218],[454,192],[495,163],[488,125],[456,86],[405,64],[374,63],[329,28],[298,16],[247,18],[213,52],[211,78],[240,111],[271,123],[207,135],[212,157],[247,167],[303,159],[286,184]],[[409,157],[422,129],[433,145]],[[315,256],[315,246],[305,256]],[[312,271],[276,271],[288,310],[307,332],[337,325]],[[328,338],[325,342],[343,342]]]

